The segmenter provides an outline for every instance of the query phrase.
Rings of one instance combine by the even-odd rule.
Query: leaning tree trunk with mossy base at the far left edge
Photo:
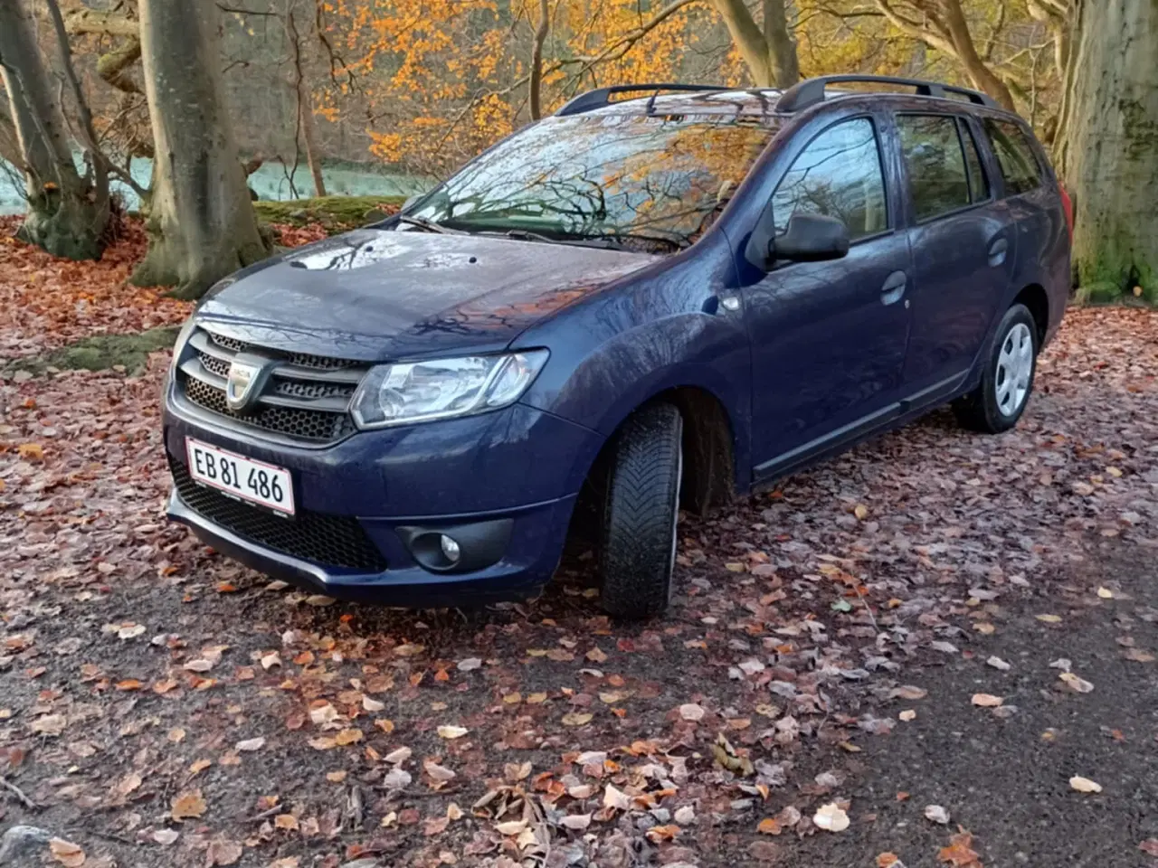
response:
[[[109,203],[81,176],[58,89],[20,0],[0,0],[0,74],[20,145],[29,213],[19,237],[68,259],[100,259]]]

